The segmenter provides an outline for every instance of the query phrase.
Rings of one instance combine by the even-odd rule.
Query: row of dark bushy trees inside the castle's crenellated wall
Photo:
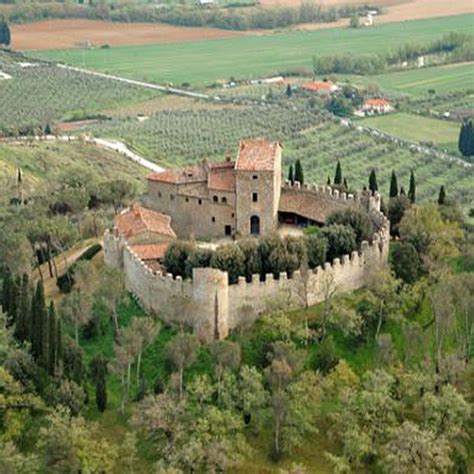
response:
[[[301,265],[309,268],[323,266],[334,258],[350,254],[363,240],[374,232],[366,211],[357,206],[333,212],[326,226],[310,226],[304,237],[273,233],[258,239],[239,239],[235,243],[219,246],[216,250],[197,247],[195,243],[177,240],[171,242],[163,258],[167,272],[174,277],[192,277],[192,269],[213,267],[229,274],[229,283],[236,283],[239,276],[247,281],[259,274],[279,278],[285,272],[291,277]]]

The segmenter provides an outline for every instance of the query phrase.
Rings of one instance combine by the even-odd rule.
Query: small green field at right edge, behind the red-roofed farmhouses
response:
[[[393,94],[428,97],[429,90],[436,94],[474,88],[474,63],[449,64],[409,71],[389,72],[374,76],[351,77],[358,84],[375,83]]]

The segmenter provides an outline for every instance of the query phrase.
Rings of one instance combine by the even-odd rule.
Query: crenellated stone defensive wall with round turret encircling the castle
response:
[[[292,186],[291,190],[318,195],[324,192],[333,204],[347,205],[362,199],[323,188]],[[366,202],[377,229],[371,242],[362,242],[358,251],[327,262],[324,267],[296,271],[291,278],[286,273],[278,278],[269,274],[261,281],[260,275],[253,275],[250,282],[240,277],[238,283],[229,285],[227,273],[214,268],[195,268],[192,280],[173,278],[151,270],[127,242],[110,231],[104,235],[105,262],[123,267],[128,290],[147,311],[172,319],[173,301],[187,299],[195,333],[205,341],[225,338],[230,330],[274,308],[275,302],[290,308],[305,307],[323,301],[328,291],[340,294],[367,285],[387,263],[390,223],[380,212],[379,195]]]

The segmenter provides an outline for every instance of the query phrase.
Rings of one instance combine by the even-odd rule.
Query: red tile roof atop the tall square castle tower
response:
[[[263,138],[241,140],[235,169],[242,171],[273,171],[275,169],[275,157],[280,148],[281,145],[278,142],[268,142]]]

